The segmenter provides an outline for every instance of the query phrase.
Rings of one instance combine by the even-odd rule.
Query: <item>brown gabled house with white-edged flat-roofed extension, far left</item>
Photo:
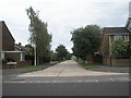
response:
[[[10,58],[11,60],[16,62],[23,61],[24,60],[23,51],[14,50],[15,40],[3,21],[0,22],[0,37],[1,37],[0,58],[1,59]]]

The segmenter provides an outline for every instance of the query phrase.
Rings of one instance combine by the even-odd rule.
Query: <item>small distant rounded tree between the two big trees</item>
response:
[[[64,60],[68,54],[68,50],[63,45],[59,45],[56,49],[56,52],[57,52],[58,60]]]

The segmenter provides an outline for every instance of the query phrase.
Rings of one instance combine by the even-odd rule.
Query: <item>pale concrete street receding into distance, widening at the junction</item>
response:
[[[93,75],[126,75],[128,73],[112,73],[112,72],[96,72],[88,71],[79,65],[75,61],[69,60],[50,66],[41,71],[25,73],[19,76],[34,77],[34,76],[93,76]]]

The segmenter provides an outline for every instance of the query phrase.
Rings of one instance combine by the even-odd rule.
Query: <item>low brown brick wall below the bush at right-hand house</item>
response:
[[[109,66],[131,66],[131,58],[130,59],[106,58],[104,64]]]

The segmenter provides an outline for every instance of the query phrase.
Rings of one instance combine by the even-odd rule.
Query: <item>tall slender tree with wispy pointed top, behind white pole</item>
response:
[[[38,11],[33,8],[26,9],[27,16],[31,21],[28,30],[31,33],[29,42],[35,47],[37,57],[49,57],[51,35],[48,34],[47,23],[38,16]]]

